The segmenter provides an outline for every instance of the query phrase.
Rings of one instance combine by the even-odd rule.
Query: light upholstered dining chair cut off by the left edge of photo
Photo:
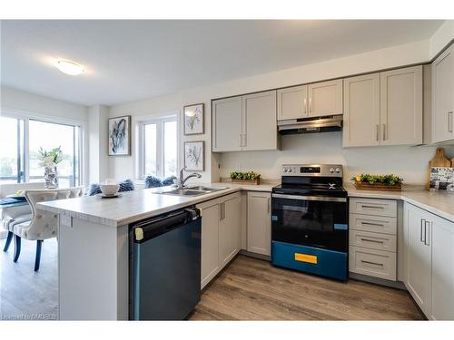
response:
[[[12,183],[0,185],[0,198],[15,194],[18,190],[44,189],[44,182],[37,183]],[[32,209],[29,204],[20,207],[0,209],[0,224],[8,231],[4,251],[7,251],[13,238],[13,227],[15,224],[29,222],[32,220]]]

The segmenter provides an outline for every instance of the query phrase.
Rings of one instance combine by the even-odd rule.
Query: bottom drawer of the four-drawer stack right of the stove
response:
[[[350,246],[349,270],[396,281],[396,253]]]

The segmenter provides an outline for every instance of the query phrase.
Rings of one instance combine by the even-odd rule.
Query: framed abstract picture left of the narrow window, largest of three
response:
[[[109,119],[109,156],[131,155],[131,116]]]

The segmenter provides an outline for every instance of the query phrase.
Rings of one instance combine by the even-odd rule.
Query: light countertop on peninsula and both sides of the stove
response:
[[[138,189],[123,192],[122,196],[116,199],[101,199],[96,196],[85,196],[77,199],[61,199],[38,203],[38,208],[76,219],[88,220],[97,224],[118,227],[206,200],[216,199],[240,190],[271,192],[271,189],[276,184],[243,185],[229,182],[201,184],[207,187],[226,187],[227,189],[195,197],[155,193],[159,189]],[[439,215],[441,218],[454,222],[453,194],[428,191],[421,187],[411,186],[404,187],[402,191],[359,190],[352,186],[347,186],[346,189],[350,197],[402,199],[421,209],[426,209],[429,212]]]

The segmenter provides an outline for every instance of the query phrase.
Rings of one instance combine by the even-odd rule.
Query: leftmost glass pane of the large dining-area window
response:
[[[24,181],[24,121],[0,117],[0,183]]]

